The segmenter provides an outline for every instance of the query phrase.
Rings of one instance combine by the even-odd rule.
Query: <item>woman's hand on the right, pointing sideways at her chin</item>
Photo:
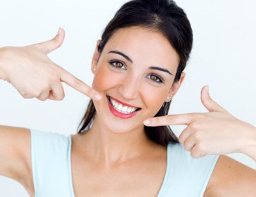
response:
[[[238,120],[219,106],[209,95],[208,86],[201,91],[202,104],[209,113],[166,115],[145,120],[150,127],[163,125],[188,125],[179,136],[191,157],[199,158],[212,154],[246,154],[256,146],[256,129],[249,123]],[[256,149],[254,149],[256,152]]]

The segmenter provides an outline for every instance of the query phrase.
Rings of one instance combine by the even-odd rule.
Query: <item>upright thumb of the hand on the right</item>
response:
[[[223,107],[211,99],[208,85],[202,88],[201,101],[208,111],[226,111]]]

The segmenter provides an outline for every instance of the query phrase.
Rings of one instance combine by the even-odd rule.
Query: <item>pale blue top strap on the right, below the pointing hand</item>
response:
[[[158,197],[203,196],[220,155],[194,159],[182,144],[168,145],[168,169]]]

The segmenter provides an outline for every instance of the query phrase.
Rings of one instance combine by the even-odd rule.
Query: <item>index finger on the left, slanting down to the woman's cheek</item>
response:
[[[90,97],[91,99],[100,100],[102,98],[100,93],[98,93],[96,90],[93,90],[93,88],[88,86],[86,83],[84,83],[74,75],[67,72],[67,70],[65,70],[64,68],[59,68],[61,70],[60,80],[68,84],[68,86],[76,89],[77,91],[80,91],[81,93]]]

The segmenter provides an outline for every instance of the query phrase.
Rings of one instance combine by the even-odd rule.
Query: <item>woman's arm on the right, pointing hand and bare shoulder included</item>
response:
[[[256,161],[256,128],[228,113],[205,89],[201,98],[209,113],[150,118],[149,126],[187,125],[179,141],[192,157],[220,155],[204,196],[256,196],[256,170],[225,156],[240,152]]]

